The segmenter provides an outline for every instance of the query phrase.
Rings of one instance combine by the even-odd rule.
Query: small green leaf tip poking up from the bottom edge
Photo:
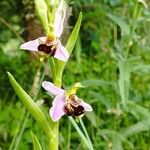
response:
[[[42,147],[41,147],[41,145],[40,145],[40,143],[39,143],[39,140],[38,140],[38,138],[36,137],[36,135],[35,135],[32,131],[30,131],[30,134],[31,134],[31,136],[32,136],[32,141],[33,141],[33,148],[34,148],[34,150],[42,150]]]

